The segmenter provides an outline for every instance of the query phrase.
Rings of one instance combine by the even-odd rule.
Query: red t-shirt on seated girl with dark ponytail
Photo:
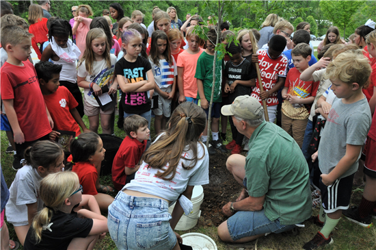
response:
[[[72,155],[67,159],[68,162],[72,161]],[[82,186],[83,195],[98,195],[96,190],[96,179],[98,179],[98,172],[94,164],[89,162],[76,162],[72,171],[79,175],[79,184]]]

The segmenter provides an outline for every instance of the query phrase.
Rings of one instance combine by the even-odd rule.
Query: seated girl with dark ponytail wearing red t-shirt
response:
[[[113,197],[98,192],[113,192],[110,186],[99,184],[100,164],[105,159],[102,139],[93,132],[83,133],[70,141],[70,152],[67,168],[79,175],[79,183],[83,186],[84,195],[93,195],[100,211],[106,212]]]

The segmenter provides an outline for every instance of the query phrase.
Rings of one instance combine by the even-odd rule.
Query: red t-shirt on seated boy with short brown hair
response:
[[[112,183],[116,190],[122,190],[125,185],[124,168],[134,168],[141,160],[145,149],[146,140],[139,142],[139,140],[130,136],[124,138],[112,164]]]

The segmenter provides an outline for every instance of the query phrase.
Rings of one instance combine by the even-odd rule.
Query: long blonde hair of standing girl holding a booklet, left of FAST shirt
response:
[[[86,68],[86,71],[88,71],[89,74],[93,73],[92,72],[93,71],[93,62],[95,62],[95,56],[94,56],[94,52],[93,52],[93,49],[92,49],[92,40],[94,40],[96,38],[105,38],[106,49],[105,49],[105,52],[103,53],[103,57],[105,58],[105,60],[107,62],[107,68],[111,68],[111,57],[110,57],[110,53],[109,53],[110,48],[109,48],[109,43],[107,41],[107,36],[106,36],[105,32],[103,31],[103,29],[100,29],[100,28],[90,29],[90,31],[86,35],[85,52],[83,53],[81,60],[79,60],[79,66],[81,66],[81,64],[83,62],[85,62],[85,68]],[[79,66],[77,66],[77,68],[79,68]]]

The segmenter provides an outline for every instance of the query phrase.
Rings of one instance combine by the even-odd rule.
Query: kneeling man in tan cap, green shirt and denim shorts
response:
[[[247,95],[221,108],[239,133],[250,138],[250,152],[231,155],[226,166],[244,188],[222,208],[230,216],[218,227],[226,242],[247,242],[279,234],[310,218],[312,201],[308,165],[295,140],[264,119],[263,107]]]

